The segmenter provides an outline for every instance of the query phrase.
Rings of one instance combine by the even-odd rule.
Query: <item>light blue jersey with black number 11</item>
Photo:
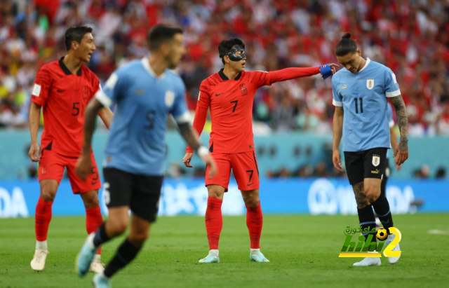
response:
[[[390,148],[387,97],[401,95],[393,71],[367,58],[358,73],[335,73],[332,90],[333,104],[344,111],[343,151]]]

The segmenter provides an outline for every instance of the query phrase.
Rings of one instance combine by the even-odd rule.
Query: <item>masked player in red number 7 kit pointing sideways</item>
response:
[[[206,231],[209,254],[200,263],[220,262],[218,241],[222,231],[221,206],[227,191],[231,169],[246,205],[246,225],[250,234],[250,260],[269,262],[260,252],[262,232],[262,210],[259,200],[259,170],[253,140],[253,100],[257,88],[279,81],[335,73],[337,64],[321,67],[287,68],[278,71],[244,71],[245,44],[240,39],[224,40],[218,46],[225,68],[206,78],[200,86],[196,104],[194,128],[201,135],[208,108],[212,118],[209,150],[217,163],[215,177],[206,177],[208,205],[206,209]],[[182,159],[187,167],[192,159],[192,148],[187,147]],[[210,168],[206,167],[206,175]]]

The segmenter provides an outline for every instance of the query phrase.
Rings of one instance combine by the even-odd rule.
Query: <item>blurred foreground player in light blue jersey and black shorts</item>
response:
[[[171,114],[182,137],[210,166],[215,162],[202,146],[189,122],[185,85],[170,71],[185,53],[182,29],[158,25],[148,34],[151,55],[117,69],[89,102],[84,125],[83,153],[76,172],[83,179],[91,171],[91,139],[95,115],[102,107],[116,103],[116,114],[105,150],[105,202],[109,220],[91,233],[76,260],[80,277],[86,275],[95,251],[103,243],[121,235],[133,212],[130,234],[102,273],[93,277],[94,287],[111,287],[110,278],[132,261],[148,237],[156,219],[166,157],[165,133]]]

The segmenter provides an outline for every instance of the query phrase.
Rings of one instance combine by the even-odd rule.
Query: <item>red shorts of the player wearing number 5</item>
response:
[[[98,190],[101,188],[100,175],[98,174],[97,163],[91,153],[92,173],[88,174],[86,181],[79,179],[75,173],[75,165],[78,157],[67,157],[59,155],[51,150],[41,151],[41,160],[39,160],[39,181],[45,179],[53,179],[60,181],[64,176],[64,168],[67,167],[70,184],[74,194],[86,193],[88,191]]]

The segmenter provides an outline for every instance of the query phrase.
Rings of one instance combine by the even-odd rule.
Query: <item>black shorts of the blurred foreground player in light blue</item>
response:
[[[156,220],[162,176],[131,174],[115,168],[105,168],[103,174],[108,208],[129,206],[138,217],[149,222]]]

